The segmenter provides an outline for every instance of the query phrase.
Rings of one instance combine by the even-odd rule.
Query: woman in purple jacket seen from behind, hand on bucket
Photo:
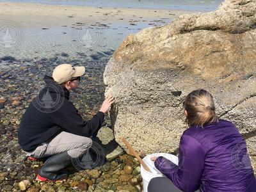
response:
[[[256,191],[246,142],[234,124],[218,119],[212,95],[195,90],[186,97],[184,109],[189,128],[180,138],[179,166],[152,157],[167,178],[150,180],[148,192]]]

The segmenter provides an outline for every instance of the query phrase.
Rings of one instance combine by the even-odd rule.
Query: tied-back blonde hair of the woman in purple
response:
[[[218,121],[215,113],[215,106],[212,95],[205,90],[195,90],[189,93],[183,103],[187,111],[186,123],[191,125],[201,125]]]

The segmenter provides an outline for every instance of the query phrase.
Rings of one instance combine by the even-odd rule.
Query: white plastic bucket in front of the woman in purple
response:
[[[148,156],[143,158],[143,161],[147,164],[148,168],[152,173],[147,172],[145,168],[143,168],[142,164],[140,165],[140,173],[141,177],[143,179],[143,191],[147,192],[148,191],[148,183],[151,179],[154,177],[165,177],[161,172],[157,170],[157,168],[154,165],[154,161],[151,161],[150,157],[159,157],[163,156],[166,159],[169,159],[175,164],[179,164],[179,158],[177,156],[173,156],[172,154],[164,154],[164,153],[157,153],[157,154],[149,154]]]

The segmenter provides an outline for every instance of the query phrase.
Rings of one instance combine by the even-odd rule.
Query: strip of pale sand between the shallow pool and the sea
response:
[[[106,8],[92,6],[61,6],[32,3],[0,3],[1,20],[19,22],[22,27],[61,26],[74,22],[125,23],[129,20],[168,19],[173,20],[187,11],[144,10],[135,8]]]

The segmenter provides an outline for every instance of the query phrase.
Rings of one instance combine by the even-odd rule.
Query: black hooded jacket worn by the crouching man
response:
[[[84,121],[69,101],[70,93],[67,88],[56,84],[49,76],[44,76],[44,81],[45,88],[29,104],[20,122],[18,138],[23,150],[31,152],[40,143],[52,140],[61,131],[90,137],[100,129],[104,121],[104,113],[99,111],[92,120]],[[51,95],[54,102],[58,101],[55,106],[51,106],[51,103],[44,106],[45,103],[41,103],[44,97],[42,95],[46,92],[49,93],[48,96]]]

